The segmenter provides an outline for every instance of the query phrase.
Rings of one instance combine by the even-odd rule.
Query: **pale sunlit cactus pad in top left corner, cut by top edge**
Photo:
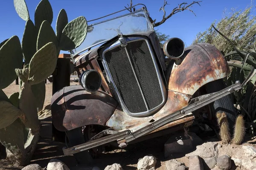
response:
[[[17,14],[25,21],[29,20],[29,10],[25,0],[13,0],[13,3]]]

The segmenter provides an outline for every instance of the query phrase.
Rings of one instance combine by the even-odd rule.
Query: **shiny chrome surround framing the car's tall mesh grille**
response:
[[[116,85],[113,81],[113,78],[111,76],[111,73],[109,71],[109,68],[108,68],[108,64],[106,62],[106,59],[105,59],[105,53],[107,51],[110,51],[111,49],[113,48],[116,48],[116,47],[119,47],[121,46],[120,42],[117,40],[116,42],[114,42],[110,47],[106,48],[104,51],[103,51],[103,54],[102,54],[102,64],[103,64],[103,67],[105,68],[105,71],[106,71],[106,74],[107,74],[107,78],[109,80],[109,82],[111,82],[111,85],[113,87],[113,91],[114,91],[114,94],[115,96],[118,98],[118,101],[119,101],[119,104],[120,106],[122,107],[123,111],[125,113],[127,113],[128,115],[130,116],[134,116],[134,117],[145,117],[145,116],[150,116],[151,114],[155,113],[155,111],[157,111],[158,109],[160,109],[164,103],[166,102],[166,88],[165,88],[165,85],[163,83],[163,78],[160,74],[160,70],[157,66],[157,61],[154,57],[154,53],[152,51],[152,48],[151,48],[151,45],[150,43],[148,42],[148,40],[144,39],[144,38],[140,38],[140,37],[125,37],[127,43],[129,42],[133,42],[133,41],[138,41],[138,40],[144,40],[146,41],[147,45],[148,45],[148,49],[150,51],[150,54],[151,54],[151,58],[153,60],[153,63],[154,63],[154,67],[155,67],[155,70],[156,70],[156,73],[157,73],[157,78],[158,78],[158,82],[159,82],[159,85],[160,85],[160,89],[161,89],[161,92],[162,92],[162,97],[163,97],[163,102],[160,103],[160,105],[158,105],[157,107],[155,108],[152,108],[151,110],[149,111],[145,111],[145,112],[140,112],[140,113],[131,113],[128,111],[128,109],[126,108],[123,100],[122,100],[122,97],[120,96],[119,92],[118,92],[118,89],[116,88]]]

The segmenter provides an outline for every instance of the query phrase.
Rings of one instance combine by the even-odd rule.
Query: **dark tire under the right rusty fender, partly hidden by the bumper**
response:
[[[223,81],[223,79],[218,79],[213,82],[209,82],[205,85],[207,93],[214,93],[217,91],[220,91],[224,88],[226,88],[226,85]],[[235,119],[236,119],[236,108],[234,107],[234,104],[231,100],[231,95],[227,95],[222,97],[221,99],[216,100],[215,102],[210,104],[210,108],[212,111],[212,117],[217,120],[216,118],[216,113],[221,111],[225,112],[227,115],[227,119],[229,122],[229,128],[230,128],[230,133],[233,135],[233,127],[235,124]]]

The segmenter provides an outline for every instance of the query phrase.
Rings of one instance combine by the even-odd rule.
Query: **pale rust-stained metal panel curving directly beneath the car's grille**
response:
[[[154,122],[164,116],[167,116],[171,113],[174,113],[175,111],[186,107],[189,103],[190,98],[191,96],[189,95],[180,94],[175,91],[169,90],[166,104],[163,106],[163,108],[160,109],[160,111],[158,111],[154,115],[148,117],[132,117],[123,112],[120,108],[116,108],[116,111],[113,113],[106,125],[108,127],[111,127],[111,129],[117,131],[128,129],[131,131],[136,131],[141,127],[150,124],[151,122]],[[191,113],[189,115],[192,116]],[[176,125],[176,123],[172,125]],[[172,125],[167,125],[167,127],[170,127]]]

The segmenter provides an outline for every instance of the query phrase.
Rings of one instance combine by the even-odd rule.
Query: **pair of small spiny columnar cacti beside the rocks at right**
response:
[[[222,143],[229,144],[232,142],[233,144],[241,144],[244,140],[245,135],[243,116],[239,115],[236,118],[236,125],[234,126],[234,135],[232,140],[226,113],[218,112],[216,114],[216,117],[218,119],[218,125],[220,127],[220,136]]]

